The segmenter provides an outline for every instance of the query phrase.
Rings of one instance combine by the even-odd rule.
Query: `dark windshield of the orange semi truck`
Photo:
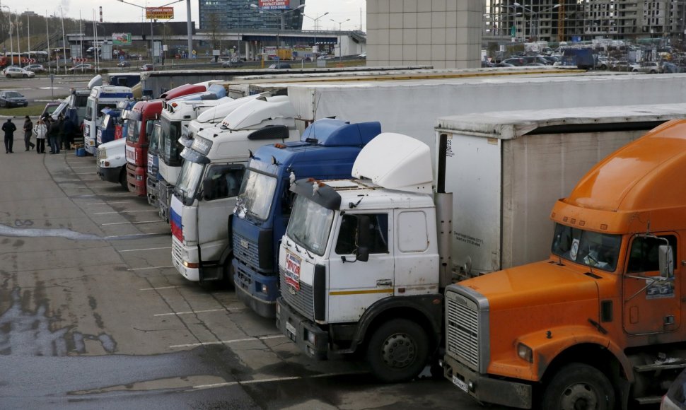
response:
[[[552,253],[571,262],[603,271],[615,271],[621,245],[621,235],[598,233],[556,223]]]

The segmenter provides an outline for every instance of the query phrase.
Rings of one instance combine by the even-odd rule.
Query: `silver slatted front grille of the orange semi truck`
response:
[[[446,294],[446,349],[458,360],[479,371],[479,310],[477,304],[457,293]]]

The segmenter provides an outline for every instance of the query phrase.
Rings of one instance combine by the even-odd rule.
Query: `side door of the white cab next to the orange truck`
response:
[[[359,215],[369,217],[372,246],[367,262],[356,261],[356,227]],[[329,322],[355,322],[377,300],[393,296],[395,261],[388,227],[389,213],[344,213],[337,218],[334,246],[329,258]]]

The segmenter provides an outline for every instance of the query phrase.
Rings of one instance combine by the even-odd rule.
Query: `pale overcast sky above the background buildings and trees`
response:
[[[125,1],[141,7],[156,7],[171,3],[173,0]],[[93,11],[95,11],[96,18],[99,18],[98,7],[102,6],[103,21],[105,22],[141,21],[141,18],[144,18],[143,9],[120,3],[120,1],[117,0],[0,0],[0,6],[2,6],[2,8],[8,6],[11,8],[12,12],[17,11],[18,13],[30,10],[41,16],[45,16],[46,13],[52,15],[55,10],[58,11],[59,15],[59,6],[62,6],[64,17],[79,18],[80,12],[83,20],[92,20]],[[348,18],[350,21],[342,24],[343,30],[359,30],[360,25],[366,30],[365,6],[366,1],[364,0],[306,0],[305,14],[311,18],[317,18],[327,11],[329,12],[329,14],[318,20],[319,30],[338,30],[338,23],[333,23],[331,20],[345,21]],[[173,21],[186,20],[186,0],[181,0],[168,7],[174,8]],[[360,21],[360,11],[362,21]],[[191,18],[197,25],[198,0],[191,0]],[[305,18],[303,21],[303,28],[305,30],[312,30],[314,28],[313,20]]]

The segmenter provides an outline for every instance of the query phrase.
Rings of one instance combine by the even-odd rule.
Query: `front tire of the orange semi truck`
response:
[[[591,365],[571,363],[560,368],[545,387],[542,409],[612,410],[615,392],[610,380]]]

